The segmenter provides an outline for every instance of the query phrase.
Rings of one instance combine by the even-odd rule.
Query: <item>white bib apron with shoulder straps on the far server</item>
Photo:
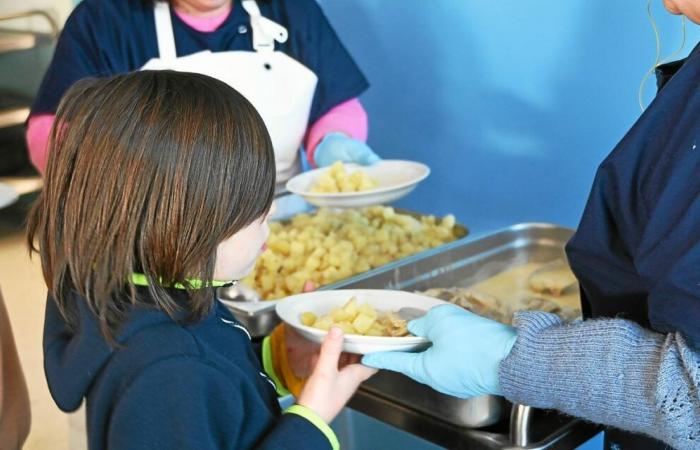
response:
[[[255,51],[204,50],[178,57],[170,6],[164,1],[156,2],[159,58],[151,59],[141,70],[200,73],[243,94],[265,121],[275,150],[277,183],[283,184],[300,171],[299,148],[306,134],[318,77],[299,61],[275,51],[275,41],[287,40],[286,28],[263,17],[255,0],[243,0],[241,5],[250,16]],[[281,209],[279,204],[277,207]]]

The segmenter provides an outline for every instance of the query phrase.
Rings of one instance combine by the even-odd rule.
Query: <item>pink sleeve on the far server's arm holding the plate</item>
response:
[[[357,98],[350,99],[334,107],[321,116],[306,135],[306,156],[312,166],[316,167],[314,151],[316,146],[328,133],[345,133],[353,139],[367,140],[367,112]]]

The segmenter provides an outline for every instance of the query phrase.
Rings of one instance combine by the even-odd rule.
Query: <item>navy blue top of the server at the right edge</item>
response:
[[[700,348],[700,46],[665,69],[600,165],[567,252],[587,316],[678,331]]]

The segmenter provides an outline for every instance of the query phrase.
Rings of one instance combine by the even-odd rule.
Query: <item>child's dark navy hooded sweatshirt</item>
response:
[[[85,301],[72,300],[76,329],[47,301],[44,366],[62,410],[87,400],[91,450],[331,448],[310,421],[280,414],[247,332],[220,302],[192,324],[134,309],[113,347]]]

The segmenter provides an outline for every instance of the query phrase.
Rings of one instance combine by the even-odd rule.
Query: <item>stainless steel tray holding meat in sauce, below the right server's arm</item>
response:
[[[514,225],[477,239],[446,244],[323,289],[468,287],[517,265],[561,258],[572,233],[549,224]],[[361,389],[460,427],[492,425],[507,413],[501,397],[460,400],[388,371],[379,372]]]

